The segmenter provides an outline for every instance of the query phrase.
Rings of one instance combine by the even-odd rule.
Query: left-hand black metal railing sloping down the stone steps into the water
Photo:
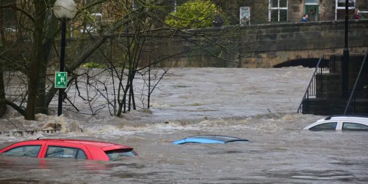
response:
[[[313,72],[312,78],[309,81],[308,87],[305,90],[304,96],[302,98],[302,101],[300,102],[300,105],[299,105],[298,110],[296,111],[296,113],[300,112],[300,110],[302,109],[303,102],[305,100],[309,101],[310,96],[316,96],[317,89],[319,89],[319,90],[322,89],[322,80],[321,80],[321,78],[319,78],[318,81],[317,81],[315,76],[316,75],[321,75],[323,71],[329,71],[330,70],[330,65],[331,64],[334,65],[334,63],[331,63],[331,61],[332,61],[332,59],[331,59],[330,55],[321,55],[319,57],[318,63],[315,66],[315,71]],[[321,67],[320,67],[320,65],[321,65]],[[335,67],[334,67],[334,70],[335,70]],[[319,85],[318,88],[317,88],[317,85]]]

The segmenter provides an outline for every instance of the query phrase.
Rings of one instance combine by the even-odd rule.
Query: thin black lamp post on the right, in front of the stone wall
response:
[[[349,28],[349,0],[345,0],[345,44],[341,62],[342,72],[342,98],[349,97],[349,48],[348,48],[348,28]]]

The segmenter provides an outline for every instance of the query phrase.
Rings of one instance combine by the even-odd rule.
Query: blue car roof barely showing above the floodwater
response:
[[[247,139],[241,139],[237,137],[224,136],[224,135],[196,135],[179,139],[173,142],[173,144],[185,144],[185,143],[228,143],[235,141],[249,142]]]

